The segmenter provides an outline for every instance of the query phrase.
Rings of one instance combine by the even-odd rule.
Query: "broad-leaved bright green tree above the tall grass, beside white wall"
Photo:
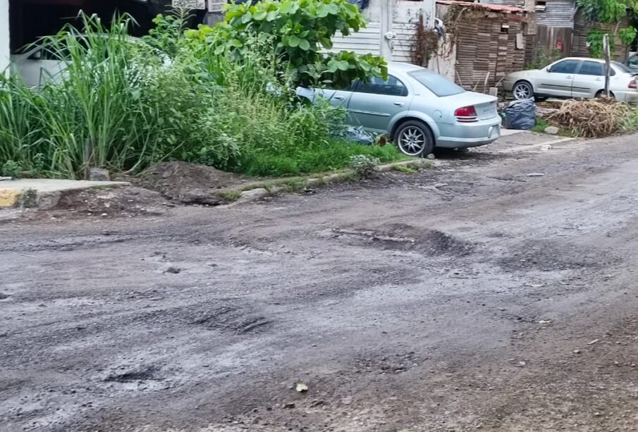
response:
[[[223,23],[212,29],[200,26],[187,36],[204,39],[217,53],[231,49],[240,56],[257,37],[271,43],[295,84],[345,87],[352,80],[387,76],[386,62],[379,56],[328,51],[337,32],[347,36],[362,27],[357,6],[347,0],[265,0],[228,5]]]

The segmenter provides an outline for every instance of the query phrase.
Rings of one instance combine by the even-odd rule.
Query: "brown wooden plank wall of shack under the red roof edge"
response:
[[[508,73],[522,70],[525,62],[524,25],[501,13],[468,14],[458,29],[456,82],[467,90],[488,92]],[[502,31],[508,24],[508,31]],[[517,34],[522,47],[517,47]]]

